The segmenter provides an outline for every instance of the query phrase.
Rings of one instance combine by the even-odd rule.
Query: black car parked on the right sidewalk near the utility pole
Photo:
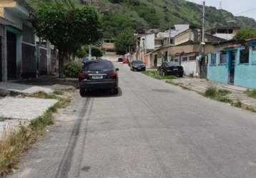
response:
[[[184,70],[179,63],[166,61],[158,68],[158,72],[160,75],[176,75],[178,77],[183,77]]]

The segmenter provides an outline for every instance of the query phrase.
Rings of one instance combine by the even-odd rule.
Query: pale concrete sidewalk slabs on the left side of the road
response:
[[[49,85],[0,82],[0,140],[11,130],[18,130],[20,125],[29,125],[31,120],[43,115],[46,110],[58,102],[58,100],[24,98],[22,95],[31,95],[39,91],[53,93],[54,90]],[[11,93],[20,96],[10,97]]]

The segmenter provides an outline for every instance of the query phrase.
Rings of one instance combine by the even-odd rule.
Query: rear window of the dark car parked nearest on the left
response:
[[[84,67],[84,70],[112,70],[113,68],[114,66],[110,61],[92,61],[87,63],[87,65]]]

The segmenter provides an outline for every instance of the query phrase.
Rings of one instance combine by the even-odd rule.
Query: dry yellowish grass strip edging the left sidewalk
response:
[[[56,99],[58,103],[46,110],[44,115],[32,120],[28,127],[20,125],[19,131],[8,133],[4,140],[0,141],[0,177],[16,168],[21,154],[34,145],[44,135],[45,127],[54,124],[54,112],[58,108],[65,108],[71,102],[70,98],[59,97],[44,92],[35,93],[36,98]]]

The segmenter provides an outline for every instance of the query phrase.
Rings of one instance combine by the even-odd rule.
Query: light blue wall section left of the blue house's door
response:
[[[225,65],[220,65],[220,52],[216,53],[216,64],[211,64],[211,54],[208,55],[208,68],[207,68],[207,79],[218,82],[218,83],[228,83],[229,82],[229,67],[228,58]]]

